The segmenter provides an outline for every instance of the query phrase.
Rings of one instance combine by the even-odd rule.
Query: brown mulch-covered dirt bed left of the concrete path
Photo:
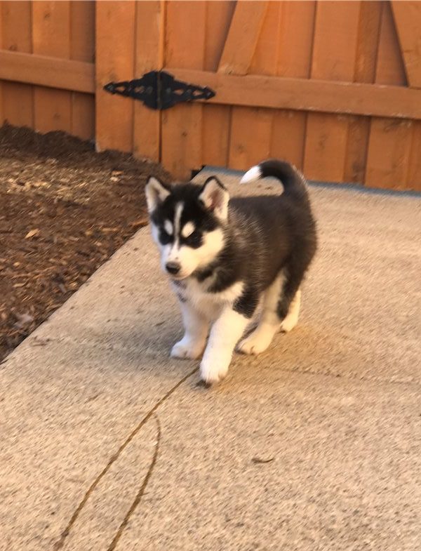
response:
[[[0,128],[0,361],[147,223],[163,169],[62,132]]]

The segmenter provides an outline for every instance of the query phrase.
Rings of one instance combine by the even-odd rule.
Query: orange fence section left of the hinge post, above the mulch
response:
[[[94,137],[93,1],[0,2],[0,46],[2,120]]]

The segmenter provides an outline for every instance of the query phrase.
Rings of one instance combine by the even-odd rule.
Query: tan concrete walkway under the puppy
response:
[[[0,550],[420,550],[421,199],[312,199],[301,323],[222,385],[147,228],[0,366]]]

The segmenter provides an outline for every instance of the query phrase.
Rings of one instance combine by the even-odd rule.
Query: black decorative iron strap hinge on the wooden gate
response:
[[[196,86],[175,80],[165,71],[151,71],[141,79],[121,82],[109,82],[104,90],[141,100],[150,109],[168,109],[177,103],[194,100],[209,100],[215,92],[208,86]]]

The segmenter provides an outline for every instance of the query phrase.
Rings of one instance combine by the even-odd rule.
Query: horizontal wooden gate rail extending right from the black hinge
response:
[[[165,69],[173,72],[177,79],[213,88],[216,96],[206,105],[253,105],[391,119],[421,119],[421,91],[416,88],[264,75],[234,77],[174,67]]]

